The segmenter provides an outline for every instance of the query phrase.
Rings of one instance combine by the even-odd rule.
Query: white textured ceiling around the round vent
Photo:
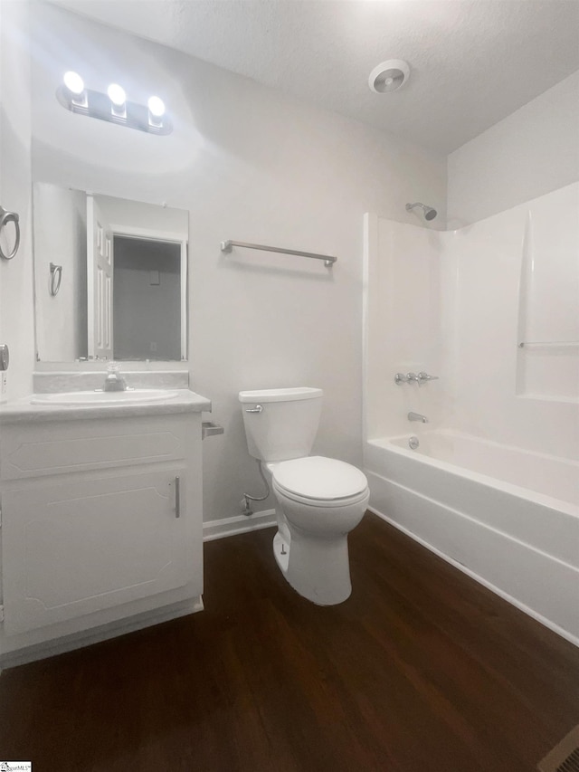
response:
[[[579,0],[55,2],[443,153],[579,69]]]

